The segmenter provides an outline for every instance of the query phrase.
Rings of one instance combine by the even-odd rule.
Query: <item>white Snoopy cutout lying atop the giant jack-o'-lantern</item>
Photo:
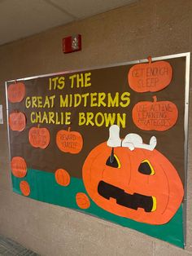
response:
[[[137,134],[128,134],[123,140],[120,139],[120,127],[113,125],[109,128],[109,139],[107,140],[107,146],[111,148],[124,147],[129,148],[131,151],[134,148],[144,148],[148,150],[154,150],[157,144],[157,139],[152,136],[149,144],[142,142],[142,137]]]

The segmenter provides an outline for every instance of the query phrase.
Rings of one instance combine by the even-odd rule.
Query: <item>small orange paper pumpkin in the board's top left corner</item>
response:
[[[7,90],[8,99],[11,103],[21,102],[25,95],[25,86],[23,82],[15,82],[9,85]]]

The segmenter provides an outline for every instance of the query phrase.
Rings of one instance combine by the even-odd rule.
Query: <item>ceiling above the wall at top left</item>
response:
[[[136,0],[0,0],[0,45]]]

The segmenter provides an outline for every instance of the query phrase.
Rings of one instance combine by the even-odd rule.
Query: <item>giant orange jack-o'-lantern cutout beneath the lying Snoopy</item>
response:
[[[184,194],[174,166],[155,149],[113,150],[111,155],[111,148],[102,143],[85,160],[83,180],[92,200],[112,214],[138,222],[168,223]]]

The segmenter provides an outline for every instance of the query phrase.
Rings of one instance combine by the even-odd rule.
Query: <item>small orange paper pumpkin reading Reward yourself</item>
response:
[[[83,147],[83,138],[77,131],[59,130],[56,135],[56,143],[62,152],[77,154]]]

